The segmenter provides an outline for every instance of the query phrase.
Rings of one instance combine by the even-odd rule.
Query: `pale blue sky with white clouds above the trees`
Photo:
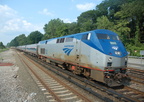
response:
[[[52,19],[76,22],[82,12],[95,9],[103,0],[0,0],[0,42],[4,45],[16,36],[33,31],[44,34]]]

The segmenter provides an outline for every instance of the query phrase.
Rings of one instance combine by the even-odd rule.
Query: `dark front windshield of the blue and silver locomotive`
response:
[[[116,35],[108,35],[108,34],[97,34],[98,39],[111,39],[111,40],[119,40],[119,37]]]

